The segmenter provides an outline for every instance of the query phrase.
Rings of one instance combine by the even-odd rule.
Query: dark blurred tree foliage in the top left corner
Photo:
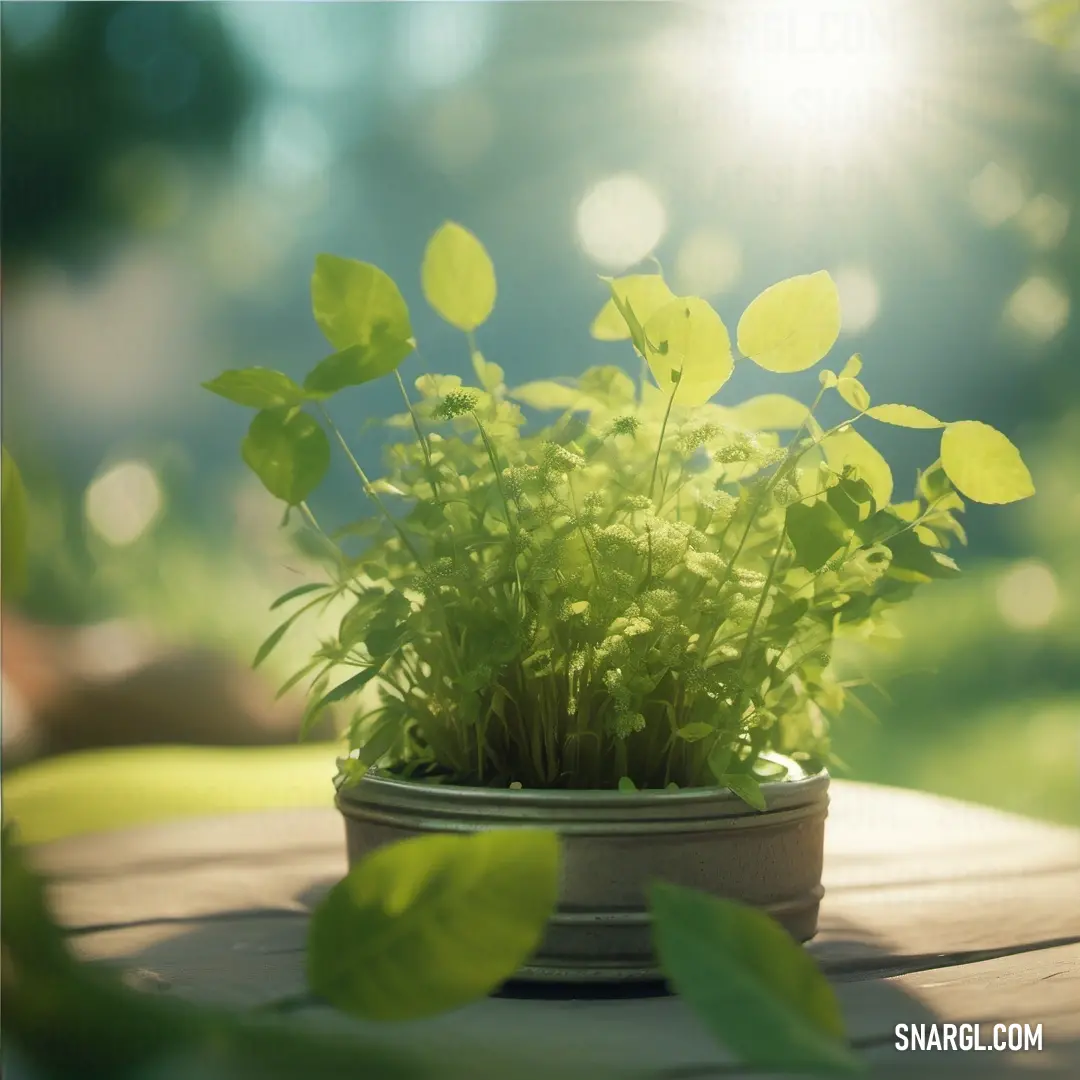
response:
[[[9,273],[42,254],[93,259],[165,181],[167,156],[229,151],[254,90],[212,4],[4,4],[3,35]],[[109,183],[135,150],[145,167]]]

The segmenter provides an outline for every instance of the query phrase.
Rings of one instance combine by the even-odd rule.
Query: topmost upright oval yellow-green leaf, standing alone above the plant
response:
[[[420,281],[428,302],[451,326],[474,330],[495,307],[495,267],[484,245],[447,221],[428,241]]]

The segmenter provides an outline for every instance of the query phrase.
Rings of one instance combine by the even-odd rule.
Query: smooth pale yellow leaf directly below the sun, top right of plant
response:
[[[840,334],[840,294],[824,270],[770,285],[739,320],[739,349],[767,372],[802,372]]]

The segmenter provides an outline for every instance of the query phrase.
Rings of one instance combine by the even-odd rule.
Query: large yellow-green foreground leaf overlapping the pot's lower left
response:
[[[338,1009],[383,1021],[483,998],[540,943],[558,862],[554,833],[522,828],[380,848],[312,916],[308,982]]]

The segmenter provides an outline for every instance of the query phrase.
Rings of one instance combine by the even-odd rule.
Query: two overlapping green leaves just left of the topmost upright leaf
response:
[[[413,351],[408,307],[393,280],[378,267],[337,255],[318,256],[311,306],[337,352],[308,376],[307,390],[333,393],[342,386],[367,382],[392,372]]]

